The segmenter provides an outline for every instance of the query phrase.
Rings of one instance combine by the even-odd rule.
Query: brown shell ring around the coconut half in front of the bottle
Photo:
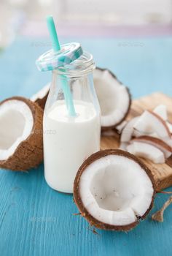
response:
[[[79,193],[79,181],[82,176],[82,173],[85,171],[87,166],[90,165],[95,160],[100,159],[101,157],[105,157],[105,156],[112,155],[112,154],[119,155],[122,157],[128,157],[128,159],[133,159],[133,161],[137,162],[138,165],[140,165],[141,168],[143,168],[145,170],[146,174],[149,176],[150,180],[152,181],[152,186],[154,189],[154,193],[152,195],[152,202],[151,202],[149,208],[147,209],[147,211],[145,212],[145,214],[143,216],[139,217],[136,220],[136,222],[133,222],[130,225],[123,225],[123,226],[109,225],[109,224],[99,221],[98,219],[95,219],[92,215],[90,215],[90,213],[87,211],[87,209],[83,205],[82,198]],[[149,211],[151,210],[153,203],[154,203],[154,197],[155,197],[155,180],[154,180],[149,168],[146,167],[146,165],[144,165],[144,162],[142,162],[141,159],[138,159],[138,157],[135,157],[133,154],[130,154],[126,151],[122,151],[120,149],[106,149],[103,151],[98,151],[95,154],[92,154],[90,157],[88,157],[85,160],[85,162],[81,165],[81,167],[79,167],[77,176],[74,180],[74,202],[76,203],[77,208],[79,209],[80,213],[82,214],[82,217],[87,219],[87,222],[89,222],[90,225],[97,227],[98,229],[101,229],[101,230],[117,230],[117,231],[132,230],[133,227],[136,227],[136,225],[138,225],[138,222],[140,219],[144,219],[146,217],[146,215],[149,214]]]

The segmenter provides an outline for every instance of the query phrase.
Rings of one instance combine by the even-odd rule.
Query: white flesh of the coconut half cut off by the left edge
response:
[[[12,156],[31,134],[33,126],[34,118],[25,102],[12,99],[0,105],[0,160]]]

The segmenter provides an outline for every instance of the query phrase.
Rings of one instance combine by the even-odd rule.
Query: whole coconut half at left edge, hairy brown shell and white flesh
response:
[[[28,170],[43,159],[43,110],[23,97],[0,103],[0,167]]]

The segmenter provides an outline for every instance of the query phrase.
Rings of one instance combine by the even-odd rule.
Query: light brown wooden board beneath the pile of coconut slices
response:
[[[141,99],[133,100],[128,120],[134,116],[140,115],[144,110],[152,110],[157,105],[164,104],[168,108],[168,118],[172,122],[172,97],[165,94],[155,93]],[[101,149],[118,148],[120,143],[120,135],[101,136]],[[165,164],[154,164],[149,160],[142,159],[144,163],[152,171],[155,177],[157,190],[165,189],[172,186],[172,157]]]

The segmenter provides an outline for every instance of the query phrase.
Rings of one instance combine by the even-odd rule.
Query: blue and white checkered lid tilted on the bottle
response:
[[[63,67],[82,56],[83,50],[79,42],[71,42],[60,46],[60,50],[48,50],[36,60],[39,71],[49,71]]]

